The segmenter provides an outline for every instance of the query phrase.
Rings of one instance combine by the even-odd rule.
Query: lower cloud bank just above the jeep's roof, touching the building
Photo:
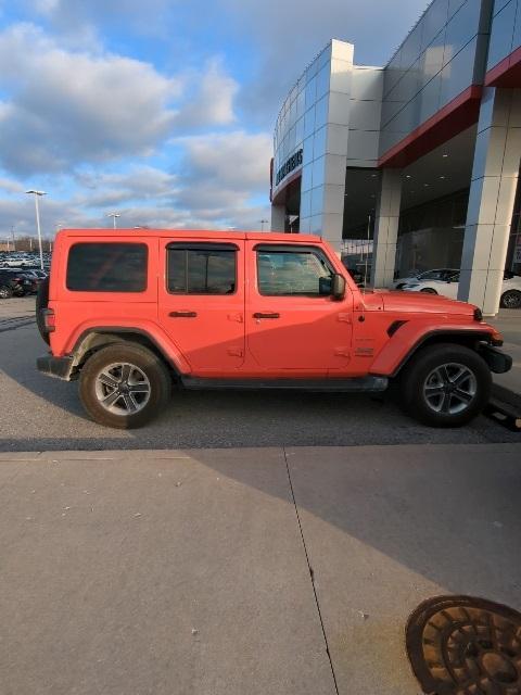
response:
[[[243,130],[178,139],[183,154],[176,173],[151,166],[80,174],[74,208],[111,208],[122,224],[181,227],[258,227],[269,208],[271,139]],[[130,226],[132,226],[130,225]]]

